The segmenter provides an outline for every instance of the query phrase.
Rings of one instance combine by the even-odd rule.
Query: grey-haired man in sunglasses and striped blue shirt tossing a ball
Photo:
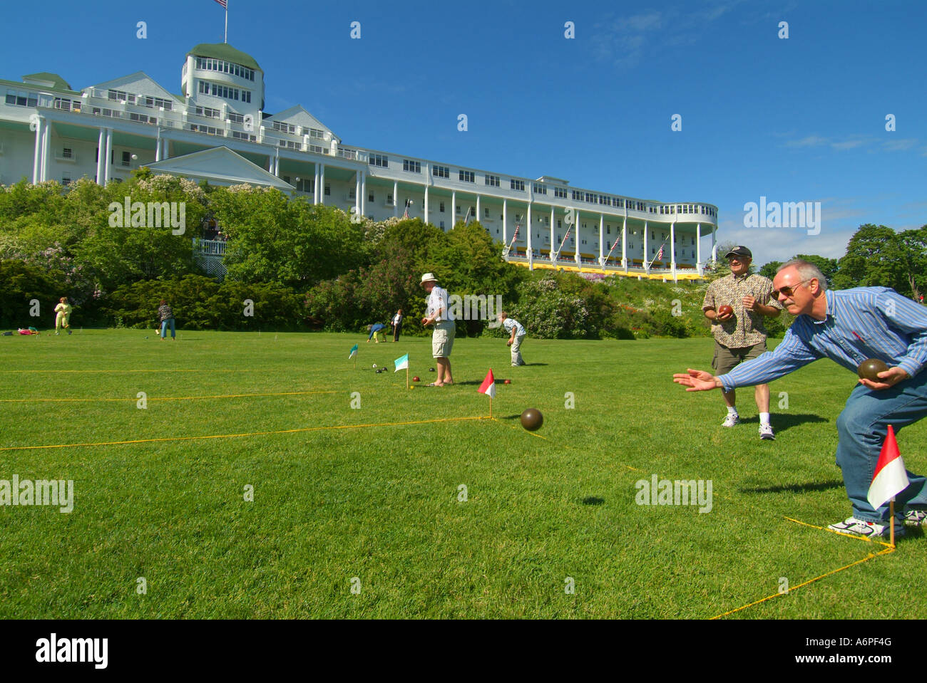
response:
[[[886,287],[828,292],[827,280],[807,261],[784,264],[773,295],[797,316],[774,351],[742,363],[727,375],[689,369],[673,375],[686,391],[730,391],[779,379],[819,358],[856,371],[868,358],[885,362],[881,381],[859,379],[837,418],[837,465],[853,516],[834,531],[887,536],[888,503],[875,510],[867,500],[888,425],[895,431],[927,416],[927,309]],[[927,526],[927,479],[908,472],[910,484],[896,496],[896,525]],[[903,533],[898,528],[895,534]]]

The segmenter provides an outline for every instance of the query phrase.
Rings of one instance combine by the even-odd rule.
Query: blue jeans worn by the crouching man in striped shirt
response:
[[[837,417],[837,465],[844,472],[846,495],[853,503],[853,516],[869,522],[888,519],[888,503],[878,510],[866,499],[888,426],[897,434],[927,416],[927,371],[898,382],[891,389],[874,391],[862,384],[850,393],[844,411]],[[899,444],[902,458],[904,446]],[[927,508],[927,479],[908,472],[910,484],[895,496],[895,514],[906,504]]]

